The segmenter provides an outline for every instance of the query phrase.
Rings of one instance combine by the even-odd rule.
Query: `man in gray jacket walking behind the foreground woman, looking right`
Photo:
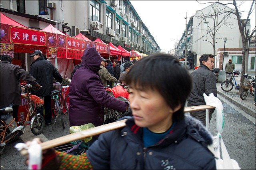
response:
[[[216,79],[212,69],[214,67],[214,55],[203,54],[199,58],[199,68],[192,71],[190,77],[192,78],[192,91],[188,96],[188,107],[206,105],[204,101],[204,93],[209,96],[213,93],[217,97],[217,87]],[[212,113],[215,109],[210,109],[209,111],[209,123],[212,118]],[[193,111],[190,115],[198,120],[200,120],[204,126],[206,125],[206,110]]]

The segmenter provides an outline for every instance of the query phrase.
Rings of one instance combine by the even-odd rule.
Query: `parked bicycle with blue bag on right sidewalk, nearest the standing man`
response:
[[[239,70],[233,70],[232,74],[226,74],[226,76],[230,76],[230,78],[228,80],[223,81],[220,84],[220,87],[223,91],[231,91],[235,85],[235,89],[239,90],[240,89],[240,85],[236,84],[236,79],[235,79],[235,75],[239,75]],[[234,81],[234,83],[233,83]]]

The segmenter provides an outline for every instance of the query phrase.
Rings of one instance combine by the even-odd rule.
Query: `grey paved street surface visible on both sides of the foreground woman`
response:
[[[236,77],[236,80],[240,79]],[[220,83],[217,83],[217,87]],[[241,100],[237,97],[238,90],[234,94],[225,93],[222,89],[218,88],[218,98],[222,101],[224,109],[224,130],[222,132],[222,137],[230,158],[236,160],[241,167],[241,169],[256,169],[256,138],[255,138],[255,116],[250,115],[242,109],[242,107],[249,107],[252,110],[255,105],[253,105],[254,98],[247,97],[245,100]],[[224,97],[223,97],[224,96]],[[231,97],[230,97],[231,96]],[[232,97],[233,96],[233,97]],[[228,98],[230,97],[230,98]],[[237,97],[237,99],[236,99]],[[236,100],[238,103],[232,103]],[[248,103],[246,105],[246,103]],[[252,105],[251,105],[252,104]],[[253,108],[254,107],[254,108]],[[189,115],[189,113],[186,113]],[[58,138],[69,133],[69,123],[68,115],[64,115],[65,129],[61,127],[61,122],[57,119],[56,124],[53,125],[54,118],[52,118],[52,125],[46,126],[43,134],[40,134],[38,137],[42,138],[44,141]],[[209,131],[212,136],[216,136],[216,115],[213,114],[212,120],[209,125]],[[1,156],[1,170],[7,169],[27,169],[27,166],[24,165],[25,156],[20,156],[19,152],[14,148],[14,145],[17,142],[25,142],[34,138],[34,134],[31,133],[31,130],[27,127],[26,132],[20,136],[20,139],[12,144],[8,144],[6,152]]]

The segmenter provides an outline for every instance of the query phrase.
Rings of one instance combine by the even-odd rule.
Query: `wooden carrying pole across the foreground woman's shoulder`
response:
[[[209,105],[200,105],[200,106],[192,106],[192,107],[185,107],[184,108],[184,113],[190,112],[190,111],[200,111],[200,110],[206,110],[206,109],[213,109],[215,108],[214,106],[209,106]],[[68,134],[66,136],[62,136],[56,139],[48,140],[46,142],[40,143],[42,150],[46,150],[49,148],[53,148],[55,146],[60,146],[62,144],[66,144],[67,142],[72,142],[74,140],[79,140],[82,138],[87,138],[90,136],[95,136],[104,132],[108,132],[110,130],[115,130],[118,128],[122,128],[126,126],[126,119],[121,120],[121,121],[116,121],[113,123],[108,123],[105,125],[101,125],[98,127],[94,128],[89,128],[86,130],[83,130],[81,132],[76,132],[72,134]],[[26,155],[28,154],[28,150],[22,149],[20,151],[21,155]]]

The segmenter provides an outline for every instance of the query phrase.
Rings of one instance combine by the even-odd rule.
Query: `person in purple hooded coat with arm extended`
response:
[[[106,93],[98,73],[101,61],[100,53],[94,47],[84,50],[82,67],[74,73],[69,85],[70,127],[87,123],[96,127],[103,125],[103,107],[121,112],[130,111],[127,103]]]

